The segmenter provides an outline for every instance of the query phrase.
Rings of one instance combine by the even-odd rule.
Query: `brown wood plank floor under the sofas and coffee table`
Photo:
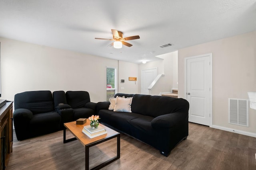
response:
[[[195,123],[189,123],[188,138],[168,157],[123,134],[120,143],[120,159],[102,170],[256,170],[256,138]],[[115,155],[116,139],[90,148],[90,168]],[[64,144],[63,131],[24,141],[17,141],[14,132],[8,170],[84,168],[84,147],[79,141]]]

